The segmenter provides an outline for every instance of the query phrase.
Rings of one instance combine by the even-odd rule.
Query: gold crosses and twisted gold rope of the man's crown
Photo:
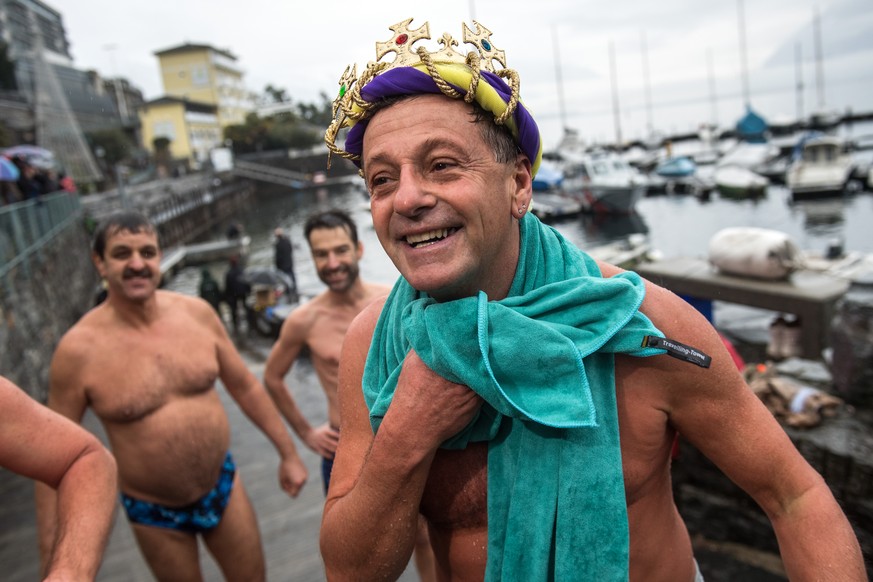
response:
[[[475,88],[479,82],[479,71],[484,69],[494,73],[508,79],[512,90],[510,107],[503,115],[495,118],[495,121],[503,123],[507,117],[512,115],[518,102],[518,74],[512,69],[506,68],[506,54],[504,51],[494,47],[494,44],[491,42],[492,33],[490,30],[476,20],[473,20],[473,26],[476,30],[463,23],[462,40],[464,43],[472,45],[475,51],[470,51],[466,55],[459,53],[455,50],[458,47],[458,41],[449,33],[443,33],[442,37],[438,40],[442,48],[429,52],[423,46],[414,48],[413,45],[421,40],[430,40],[430,25],[425,22],[417,29],[411,30],[409,25],[412,23],[412,20],[412,18],[407,18],[388,27],[394,33],[393,36],[387,41],[376,43],[376,60],[367,63],[367,67],[360,78],[357,75],[356,65],[349,65],[343,71],[339,80],[339,93],[333,102],[332,113],[334,119],[325,132],[325,143],[327,143],[331,153],[352,160],[358,159],[358,156],[343,151],[336,146],[337,134],[343,127],[351,126],[357,121],[368,117],[370,103],[361,97],[361,89],[377,75],[399,67],[415,67],[419,65],[426,67],[434,82],[444,94],[453,98],[460,98],[462,94],[458,93],[441,77],[434,65],[437,63],[457,63],[469,66],[473,72],[473,78],[466,94],[463,95],[464,100],[467,102],[473,101]],[[383,61],[382,59],[389,53],[394,53],[394,60]],[[500,69],[495,68],[495,61],[501,65]],[[329,156],[328,167],[330,167]]]

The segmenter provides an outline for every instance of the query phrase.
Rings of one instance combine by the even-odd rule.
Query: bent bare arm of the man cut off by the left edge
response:
[[[57,491],[43,580],[93,580],[112,530],[115,459],[97,437],[0,376],[0,467]]]

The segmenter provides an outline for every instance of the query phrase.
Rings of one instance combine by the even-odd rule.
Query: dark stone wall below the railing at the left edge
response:
[[[89,238],[73,221],[0,282],[0,374],[37,400],[48,391],[52,353],[91,308],[99,284]]]

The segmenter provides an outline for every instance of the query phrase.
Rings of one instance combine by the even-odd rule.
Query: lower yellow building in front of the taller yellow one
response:
[[[209,159],[209,152],[222,144],[217,108],[178,97],[160,97],[141,105],[143,145],[154,155],[155,139],[170,141],[174,160],[187,159],[194,169]]]

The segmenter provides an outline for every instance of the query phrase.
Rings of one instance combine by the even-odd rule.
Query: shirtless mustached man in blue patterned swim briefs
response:
[[[93,259],[108,297],[61,339],[49,406],[77,422],[90,406],[102,422],[118,461],[122,504],[158,580],[202,578],[198,536],[227,580],[263,580],[260,532],[230,456],[215,382],[276,447],[280,485],[296,496],[306,468],[281,416],[215,310],[158,289],[161,251],[144,216],[106,218]],[[53,501],[38,491],[49,515]]]

